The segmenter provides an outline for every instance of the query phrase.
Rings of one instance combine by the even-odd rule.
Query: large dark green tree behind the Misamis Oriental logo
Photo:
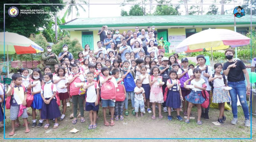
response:
[[[0,1],[1,5],[4,4],[44,4],[44,3],[51,3],[51,4],[62,4],[62,0],[40,0],[31,2],[31,0],[5,0]],[[5,31],[17,33],[20,35],[24,35],[29,37],[30,34],[38,34],[40,27],[46,27],[50,21],[52,21],[51,14],[19,14],[17,17],[12,18],[8,15],[8,9],[11,6],[16,6],[19,10],[21,9],[40,9],[51,12],[58,12],[59,10],[63,9],[64,5],[5,5]],[[4,31],[4,7],[0,7],[0,32]]]

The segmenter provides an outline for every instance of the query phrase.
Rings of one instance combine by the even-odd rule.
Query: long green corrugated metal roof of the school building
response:
[[[250,15],[245,15],[241,18],[236,18],[236,24],[250,24],[250,18]],[[145,26],[150,23],[154,23],[155,26],[233,25],[234,15],[166,15],[77,18],[63,25],[60,25],[60,28],[101,27],[102,25]],[[252,24],[256,24],[256,16],[252,16]]]

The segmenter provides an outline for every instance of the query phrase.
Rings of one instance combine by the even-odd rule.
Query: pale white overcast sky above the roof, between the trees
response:
[[[64,2],[68,2],[68,0],[63,0]],[[129,11],[130,7],[134,4],[131,3],[131,5],[125,5],[121,6],[121,3],[123,0],[86,0],[87,2],[90,2],[90,11],[88,10],[88,5],[82,5],[86,12],[82,11],[81,9],[79,11],[79,16],[77,18],[88,18],[88,17],[119,17],[121,13],[121,9],[124,9],[125,11]],[[172,4],[177,4],[179,0],[172,0]],[[220,0],[217,0],[220,1]],[[82,3],[79,0],[76,0],[77,3]],[[138,0],[138,3],[141,2],[141,0]],[[149,0],[147,2],[149,4]],[[200,0],[190,0],[188,4],[199,4]],[[97,4],[97,5],[93,5]],[[118,4],[118,5],[110,5],[110,4]],[[153,0],[153,4],[157,4],[156,1]],[[212,0],[204,0],[204,4],[209,5],[203,5],[204,11],[208,11],[208,8],[210,4],[212,4]],[[243,0],[236,0],[236,3],[234,5],[234,2],[231,2],[231,5],[224,5],[225,10],[229,10],[227,14],[232,14],[233,9],[238,5],[243,4]],[[191,5],[189,5],[191,6]],[[220,10],[221,5],[217,5]],[[67,10],[68,5],[59,12],[59,16],[62,17],[64,15],[64,12]],[[152,5],[151,12],[153,13],[155,11],[156,5]],[[73,8],[74,9],[74,8]],[[184,5],[180,5],[179,11],[181,11],[181,15],[185,15],[184,11]],[[73,19],[76,18],[75,10],[73,12]],[[146,6],[146,12],[149,13],[149,5]],[[205,13],[206,13],[205,12]],[[71,16],[66,18],[66,21],[71,20]]]

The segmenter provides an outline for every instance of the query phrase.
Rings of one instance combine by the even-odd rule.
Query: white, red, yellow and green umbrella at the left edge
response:
[[[25,36],[1,32],[0,54],[7,54],[7,75],[9,75],[9,54],[32,54],[44,52],[44,49]]]

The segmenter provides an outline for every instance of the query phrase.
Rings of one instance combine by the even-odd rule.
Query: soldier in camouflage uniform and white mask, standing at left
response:
[[[52,47],[49,45],[46,47],[47,52],[42,54],[42,60],[45,65],[48,65],[52,68],[52,73],[54,72],[54,65],[60,64],[58,56],[55,53],[52,53]]]

